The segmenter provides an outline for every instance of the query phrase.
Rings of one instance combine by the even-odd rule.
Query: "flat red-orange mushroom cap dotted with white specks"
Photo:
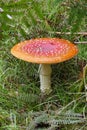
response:
[[[11,53],[28,62],[51,64],[71,59],[78,53],[78,49],[68,40],[36,38],[16,44]]]

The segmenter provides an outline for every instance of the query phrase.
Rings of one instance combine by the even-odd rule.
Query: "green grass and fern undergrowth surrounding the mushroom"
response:
[[[0,130],[87,129],[86,31],[86,0],[0,0]],[[52,65],[53,91],[44,97],[38,65],[10,54],[36,37],[65,38],[79,48],[75,58]]]

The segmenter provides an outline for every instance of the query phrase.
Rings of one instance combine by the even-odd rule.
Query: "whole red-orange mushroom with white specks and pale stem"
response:
[[[44,94],[51,90],[51,65],[71,59],[78,53],[76,45],[59,38],[36,38],[16,44],[11,53],[24,61],[40,64],[40,89]]]

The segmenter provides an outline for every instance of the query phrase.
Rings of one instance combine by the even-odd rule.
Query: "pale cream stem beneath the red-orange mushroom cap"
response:
[[[49,94],[51,90],[51,65],[50,64],[40,64],[39,74],[40,74],[40,89],[44,94]]]

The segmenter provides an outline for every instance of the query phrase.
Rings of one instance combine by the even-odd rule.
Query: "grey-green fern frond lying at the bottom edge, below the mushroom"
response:
[[[36,114],[32,113],[31,117],[33,117],[33,120],[29,123],[28,130],[33,130],[37,126],[38,128],[40,128],[39,126],[41,123],[43,124],[44,129],[45,126],[47,126],[48,129],[51,129],[56,128],[59,125],[70,125],[86,122],[86,119],[83,118],[81,114],[74,112],[65,112],[57,114],[56,112],[46,113],[45,111],[43,111],[41,113]]]

